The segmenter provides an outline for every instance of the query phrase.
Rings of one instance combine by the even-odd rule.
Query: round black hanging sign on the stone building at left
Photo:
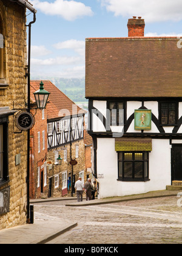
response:
[[[35,124],[35,118],[32,113],[21,111],[15,117],[15,124],[19,130],[29,130]]]

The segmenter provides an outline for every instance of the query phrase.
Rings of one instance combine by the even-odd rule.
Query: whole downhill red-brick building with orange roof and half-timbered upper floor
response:
[[[32,93],[38,90],[40,82],[38,80],[31,81]],[[32,162],[34,174],[31,175],[34,177],[32,183],[35,184],[32,184],[32,187],[34,186],[32,196],[35,198],[67,196],[75,193],[74,184],[79,176],[86,180],[85,112],[50,81],[44,80],[42,82],[50,96],[44,112],[45,119],[42,120],[41,113],[39,113],[40,116],[35,115],[36,125],[32,129],[33,141],[35,141],[32,144],[34,146],[32,149],[34,152],[32,158],[34,160],[34,163]],[[42,146],[43,143],[42,132],[45,129],[46,149],[39,151],[39,144]],[[39,143],[36,140],[39,140]],[[62,158],[61,166],[58,165],[57,160],[59,155]],[[52,162],[52,166],[47,166],[46,169],[45,160]],[[76,160],[77,164],[70,165],[70,160]]]

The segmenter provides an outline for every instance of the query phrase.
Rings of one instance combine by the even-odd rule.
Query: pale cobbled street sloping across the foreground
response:
[[[70,202],[43,202],[34,206],[35,216],[41,213],[42,218],[48,215],[78,222],[77,227],[50,244],[182,243],[182,207],[178,206],[176,196],[67,207]]]

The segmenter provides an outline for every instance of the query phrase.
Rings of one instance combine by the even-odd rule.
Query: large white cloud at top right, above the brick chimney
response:
[[[101,4],[115,16],[142,16],[148,23],[182,20],[181,0],[100,0]]]

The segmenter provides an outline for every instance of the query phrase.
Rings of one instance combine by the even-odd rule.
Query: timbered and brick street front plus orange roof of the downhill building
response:
[[[47,113],[47,154],[45,158],[46,162],[51,162],[51,165],[47,166],[47,175],[42,175],[42,177],[47,177],[47,182],[42,181],[47,187],[47,190],[44,188],[44,194],[48,197],[73,195],[76,179],[79,176],[83,177],[83,181],[86,179],[85,111],[71,101],[52,82],[48,80],[42,82],[45,90],[50,93],[45,110]],[[32,80],[31,86],[38,90],[40,83],[39,80]],[[37,122],[39,125],[39,120]],[[40,140],[42,139],[40,138]],[[61,165],[58,165],[59,157],[62,158]],[[45,170],[42,169],[42,171]]]

